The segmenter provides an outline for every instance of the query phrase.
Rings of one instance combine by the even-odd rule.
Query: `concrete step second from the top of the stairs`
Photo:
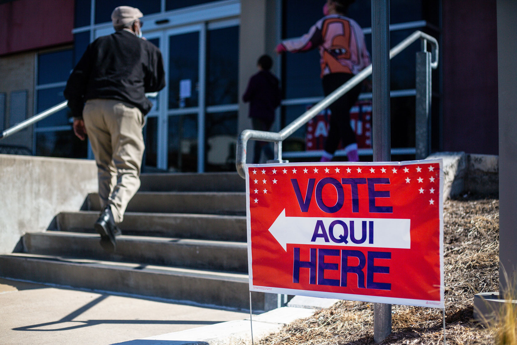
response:
[[[88,209],[100,211],[98,193],[88,194]],[[246,215],[244,192],[138,192],[128,204],[128,212],[202,213]]]

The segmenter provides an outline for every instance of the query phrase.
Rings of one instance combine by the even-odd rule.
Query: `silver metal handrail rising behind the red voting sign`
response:
[[[401,51],[409,47],[410,44],[415,42],[417,39],[422,40],[422,50],[424,51],[427,51],[427,42],[431,43],[431,68],[436,69],[438,67],[438,41],[433,36],[425,34],[421,31],[415,31],[402,42],[397,44],[397,46],[393,47],[389,52],[389,58],[391,59],[394,56],[397,56]],[[291,134],[293,134],[298,128],[305,125],[307,122],[309,122],[311,118],[313,118],[322,110],[327,108],[334,101],[338,100],[341,96],[350,91],[354,86],[358,85],[361,81],[370,76],[370,74],[372,74],[371,64],[359,73],[357,73],[354,77],[349,79],[346,83],[338,87],[334,92],[325,97],[323,100],[316,103],[315,106],[313,106],[311,109],[300,115],[297,119],[295,119],[295,121],[287,125],[278,133],[253,129],[243,130],[237,138],[237,153],[235,166],[237,168],[237,172],[239,173],[239,175],[242,178],[246,178],[244,167],[246,165],[246,146],[248,144],[248,140],[252,139],[274,142],[276,157],[275,161],[282,162],[282,141],[284,141],[287,137],[291,136]]]

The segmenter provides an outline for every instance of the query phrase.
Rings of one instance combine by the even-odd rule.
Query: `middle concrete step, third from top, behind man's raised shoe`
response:
[[[93,233],[97,211],[62,212],[50,230]],[[126,212],[124,235],[246,242],[246,216]]]

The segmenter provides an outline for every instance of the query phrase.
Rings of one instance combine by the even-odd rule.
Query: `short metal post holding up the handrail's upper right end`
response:
[[[431,53],[416,53],[416,112],[415,149],[416,159],[424,159],[431,153]]]

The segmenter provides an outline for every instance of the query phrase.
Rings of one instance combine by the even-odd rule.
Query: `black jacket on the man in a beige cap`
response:
[[[164,86],[160,50],[132,32],[120,30],[88,45],[68,78],[64,95],[73,117],[82,117],[84,103],[94,98],[119,99],[145,115],[153,106],[145,93]]]

